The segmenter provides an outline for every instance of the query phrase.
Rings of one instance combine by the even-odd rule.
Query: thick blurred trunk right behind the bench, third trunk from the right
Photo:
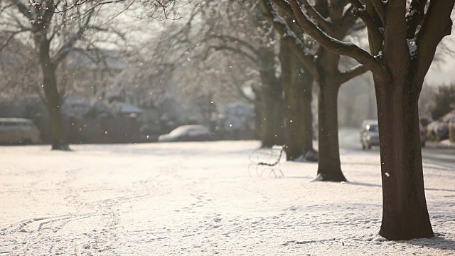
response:
[[[311,100],[313,77],[282,43],[280,50],[284,90],[284,144],[287,160],[298,159],[313,149]]]

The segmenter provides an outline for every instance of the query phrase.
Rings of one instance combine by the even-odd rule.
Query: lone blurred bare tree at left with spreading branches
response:
[[[58,68],[73,51],[90,56],[97,52],[102,43],[109,44],[123,38],[117,29],[109,27],[109,21],[133,3],[134,1],[125,0],[31,0],[28,4],[18,0],[0,2],[0,23],[5,28],[3,32],[6,35],[1,48],[14,38],[32,38],[32,58],[37,59],[41,68],[41,90],[50,119],[52,149],[69,149],[60,112],[65,82],[59,83],[56,75]],[[122,4],[123,8],[115,14],[100,17],[102,7],[108,4]],[[173,1],[154,0],[142,4],[149,16],[156,18],[164,15],[164,18],[168,18],[166,10],[173,5]]]

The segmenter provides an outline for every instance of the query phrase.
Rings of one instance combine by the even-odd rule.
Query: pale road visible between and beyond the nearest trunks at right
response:
[[[342,128],[339,132],[340,147],[355,151],[362,151],[358,129]],[[378,152],[379,148],[373,147],[370,151]],[[434,143],[428,143],[422,148],[422,159],[431,164],[440,164],[455,171],[455,147],[442,148]]]

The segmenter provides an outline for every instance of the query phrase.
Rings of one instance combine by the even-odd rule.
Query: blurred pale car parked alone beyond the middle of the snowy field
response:
[[[203,125],[183,125],[168,134],[158,137],[158,142],[201,142],[211,138],[212,133]]]

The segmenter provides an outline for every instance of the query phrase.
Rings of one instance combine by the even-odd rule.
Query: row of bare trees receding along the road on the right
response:
[[[303,115],[299,104],[308,104],[308,100],[301,96],[306,91],[304,86],[310,83],[308,81],[314,80],[318,86],[318,180],[346,181],[338,149],[338,90],[344,82],[357,75],[368,70],[373,74],[380,125],[384,204],[380,235],[390,240],[432,237],[424,195],[417,103],[437,46],[451,33],[450,16],[455,0],[261,0],[260,12],[255,9],[257,3],[236,4],[239,7],[232,7],[232,11],[237,16],[233,17],[243,17],[239,14],[247,9],[250,14],[255,14],[252,24],[256,29],[237,24],[235,38],[232,38],[232,34],[226,36],[220,26],[212,26],[208,36],[223,43],[213,46],[216,50],[237,54],[239,48],[244,49],[240,54],[257,65],[262,82],[257,99],[264,105],[260,109],[264,114],[261,116],[262,127],[278,138],[279,132],[273,125],[282,124],[277,120],[282,120],[279,113],[285,113],[287,140],[284,144],[290,147],[291,157],[294,151],[290,149],[295,149],[298,155],[304,152],[304,148],[303,144],[294,147],[295,127],[287,124],[303,120],[296,113]],[[217,3],[216,7],[220,9],[220,4]],[[208,6],[204,6],[204,10],[207,11]],[[229,16],[229,11],[227,9],[223,14]],[[227,18],[222,25],[232,20],[234,18]],[[264,20],[269,21],[279,38],[264,25]],[[343,41],[364,27],[368,31],[369,50]],[[246,28],[245,32],[243,28]],[[245,41],[257,44],[250,46],[251,43]],[[319,47],[314,46],[314,41]],[[341,70],[340,55],[353,58],[360,64]],[[277,69],[272,68],[275,65],[272,58],[276,57],[281,60],[278,74]],[[308,83],[304,85],[299,81],[293,85],[294,71]],[[280,108],[282,93],[285,111],[274,114]],[[267,119],[271,123],[267,123]],[[302,131],[305,124],[296,124],[296,127]],[[267,137],[263,137],[262,142],[269,145]],[[304,139],[299,138],[298,143],[302,142]]]

